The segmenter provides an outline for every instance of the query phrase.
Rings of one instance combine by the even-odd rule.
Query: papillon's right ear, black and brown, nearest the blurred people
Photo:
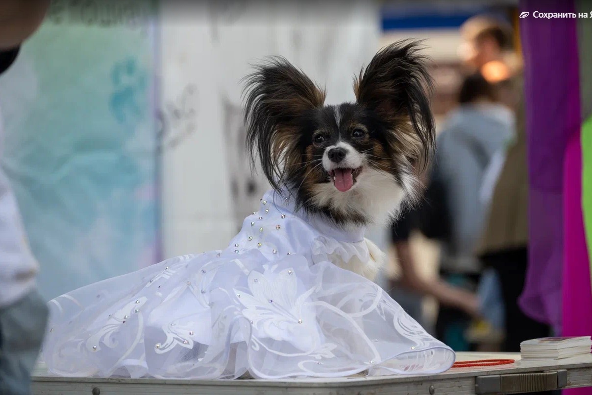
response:
[[[374,112],[395,138],[394,147],[424,167],[435,147],[430,109],[432,77],[419,41],[398,41],[382,48],[354,82],[358,105]]]

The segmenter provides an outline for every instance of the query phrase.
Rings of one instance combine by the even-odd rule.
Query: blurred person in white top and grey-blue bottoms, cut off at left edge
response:
[[[0,74],[43,21],[49,1],[0,2]],[[0,118],[0,159],[2,155]],[[17,202],[0,167],[0,394],[30,393],[47,306],[37,293],[37,263],[28,249]]]

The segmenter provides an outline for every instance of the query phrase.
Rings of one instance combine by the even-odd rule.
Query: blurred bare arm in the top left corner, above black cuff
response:
[[[49,8],[49,0],[0,1],[0,50],[18,47],[33,34]]]

